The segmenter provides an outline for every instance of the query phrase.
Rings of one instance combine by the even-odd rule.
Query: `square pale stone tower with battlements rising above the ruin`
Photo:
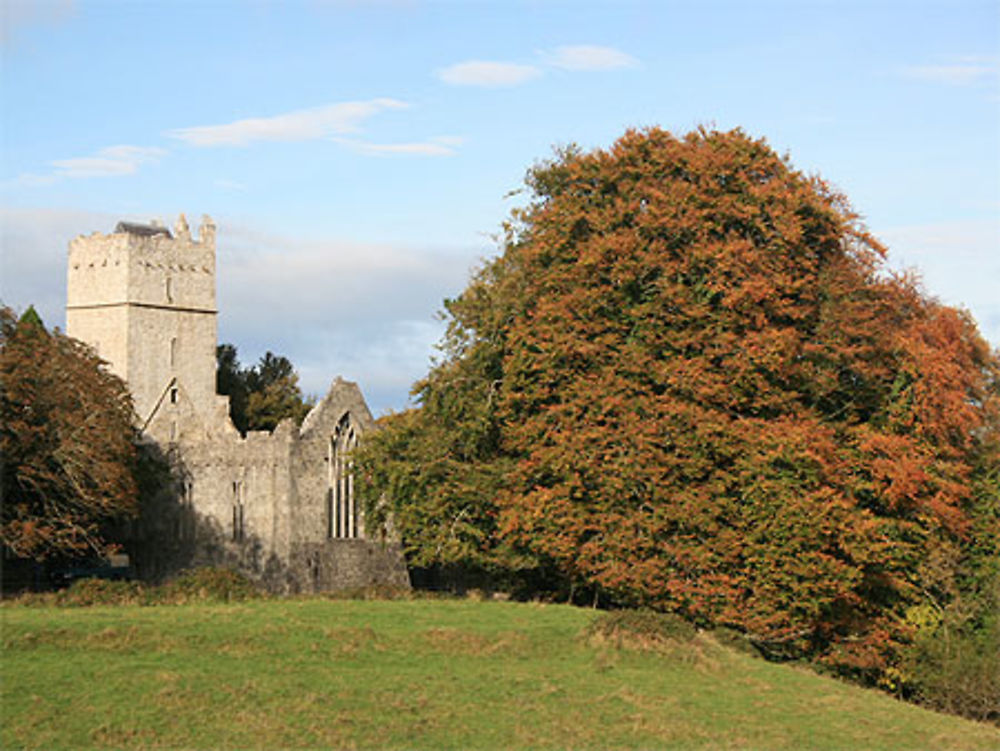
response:
[[[93,346],[129,385],[140,426],[183,396],[215,411],[215,224],[191,237],[182,214],[159,223],[119,222],[70,243],[66,333]]]

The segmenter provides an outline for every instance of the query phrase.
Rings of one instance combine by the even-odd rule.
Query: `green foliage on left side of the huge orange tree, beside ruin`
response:
[[[497,416],[503,382],[506,259],[446,300],[446,358],[418,382],[421,406],[388,415],[365,436],[355,464],[366,524],[392,523],[412,565],[503,575],[534,570],[534,556],[498,537],[496,496],[513,465]],[[386,499],[390,502],[386,503]]]

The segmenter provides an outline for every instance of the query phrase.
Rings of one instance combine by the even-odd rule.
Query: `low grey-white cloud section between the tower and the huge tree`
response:
[[[247,364],[285,355],[309,393],[336,375],[357,381],[375,413],[402,408],[426,375],[444,332],[435,313],[483,253],[304,240],[224,219],[218,243],[220,341]]]

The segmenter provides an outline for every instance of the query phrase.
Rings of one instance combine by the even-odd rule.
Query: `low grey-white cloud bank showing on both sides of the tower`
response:
[[[139,217],[0,208],[0,300],[63,326],[67,244],[128,218]],[[444,333],[435,313],[484,252],[318,242],[216,219],[219,340],[245,364],[285,355],[308,393],[326,393],[336,375],[357,381],[376,414],[406,405]]]

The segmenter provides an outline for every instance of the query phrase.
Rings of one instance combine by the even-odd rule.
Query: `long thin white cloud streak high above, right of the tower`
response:
[[[338,102],[295,110],[273,117],[254,117],[223,125],[199,125],[167,131],[167,135],[193,146],[249,146],[256,141],[311,141],[357,133],[362,123],[385,110],[409,105],[397,99]]]

